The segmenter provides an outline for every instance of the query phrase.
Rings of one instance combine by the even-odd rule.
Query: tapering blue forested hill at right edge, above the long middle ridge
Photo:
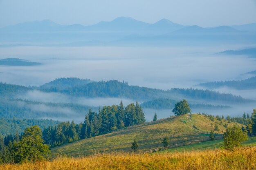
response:
[[[204,86],[210,89],[219,88],[222,86],[227,86],[229,88],[235,88],[238,90],[249,90],[256,89],[256,76],[244,80],[232,80],[232,81],[222,81],[222,82],[207,82],[201,83],[198,86]]]

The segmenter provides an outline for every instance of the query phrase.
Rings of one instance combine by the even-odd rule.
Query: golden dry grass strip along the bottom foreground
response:
[[[122,152],[52,161],[1,165],[0,170],[253,170],[256,147],[134,155]]]

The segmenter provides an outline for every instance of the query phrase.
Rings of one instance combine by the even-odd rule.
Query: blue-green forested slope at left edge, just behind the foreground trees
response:
[[[3,119],[0,118],[0,135],[21,134],[27,127],[37,125],[41,129],[59,124],[59,121],[48,119]]]

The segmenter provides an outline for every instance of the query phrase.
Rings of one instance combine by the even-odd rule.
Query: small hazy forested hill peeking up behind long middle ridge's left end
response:
[[[52,91],[64,90],[66,88],[71,88],[73,86],[83,86],[88,83],[91,83],[90,79],[79,79],[77,77],[74,78],[58,78],[49,83],[46,83],[39,87],[39,89],[52,89]]]

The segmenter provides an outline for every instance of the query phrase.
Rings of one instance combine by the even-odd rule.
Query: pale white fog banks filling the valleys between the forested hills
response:
[[[198,88],[196,84],[248,78],[244,75],[256,70],[255,58],[239,55],[214,55],[227,49],[243,49],[248,46],[214,46],[193,48],[135,48],[135,47],[1,47],[0,59],[17,57],[40,66],[0,66],[0,81],[25,86],[43,85],[58,77],[90,78],[94,81],[128,81],[129,85],[150,88]],[[216,89],[221,93],[232,93],[256,99],[256,90],[237,91],[229,88]],[[119,98],[70,97],[59,93],[31,91],[17,98],[39,102],[77,103],[88,106],[119,104]],[[132,101],[122,99],[127,105]],[[144,101],[140,101],[144,102]],[[224,104],[223,104],[224,105]],[[233,106],[232,106],[233,107]],[[207,110],[218,115],[242,115],[253,106],[234,106],[228,110]],[[206,110],[193,110],[202,112]],[[150,121],[153,114],[170,116],[171,110],[145,110]],[[161,113],[160,113],[161,112]]]

